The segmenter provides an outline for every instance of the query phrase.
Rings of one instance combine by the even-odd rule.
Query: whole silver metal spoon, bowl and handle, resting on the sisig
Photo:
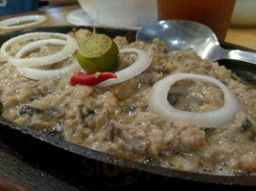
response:
[[[256,53],[222,49],[214,32],[205,25],[186,20],[166,20],[151,23],[136,34],[137,41],[151,43],[159,38],[173,51],[191,47],[202,58],[212,61],[235,59],[256,64]]]

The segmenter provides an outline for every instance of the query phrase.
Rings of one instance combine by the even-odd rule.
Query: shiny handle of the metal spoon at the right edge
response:
[[[241,60],[244,62],[252,63],[256,65],[256,53],[252,52],[244,52],[239,50],[226,50],[226,49],[219,49],[219,56],[215,56],[215,60],[221,58],[227,59],[234,59],[234,60]]]

